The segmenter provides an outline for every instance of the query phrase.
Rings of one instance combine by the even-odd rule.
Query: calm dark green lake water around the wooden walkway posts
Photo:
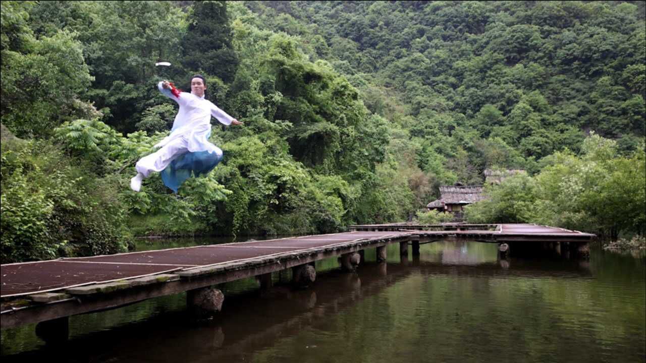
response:
[[[156,240],[139,250],[227,240]],[[218,316],[196,320],[185,294],[70,318],[47,346],[34,325],[2,331],[3,361],[646,362],[646,258],[592,248],[589,260],[509,258],[495,244],[399,244],[356,273],[317,262],[317,281],[273,274],[220,285]]]

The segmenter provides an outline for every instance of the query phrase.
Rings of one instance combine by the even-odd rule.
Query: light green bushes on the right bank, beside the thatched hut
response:
[[[469,222],[538,223],[591,231],[616,240],[646,231],[644,145],[620,156],[616,141],[592,135],[583,154],[556,152],[534,177],[488,185],[490,199],[466,207]]]

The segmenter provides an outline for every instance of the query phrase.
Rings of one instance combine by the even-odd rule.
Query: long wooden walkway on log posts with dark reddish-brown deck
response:
[[[224,297],[210,288],[213,285],[257,276],[266,289],[271,286],[271,273],[285,269],[292,269],[296,284],[307,285],[315,280],[313,263],[317,260],[340,256],[342,269],[353,271],[368,248],[377,249],[377,260],[385,261],[388,244],[399,243],[405,256],[408,245],[415,255],[420,244],[445,238],[510,244],[512,251],[521,244],[539,244],[577,254],[585,253],[594,237],[518,224],[395,223],[350,229],[348,233],[0,265],[1,327],[40,322],[37,331],[41,327],[41,337],[47,338],[67,329],[68,316],[183,291],[189,292],[189,304],[218,311]]]

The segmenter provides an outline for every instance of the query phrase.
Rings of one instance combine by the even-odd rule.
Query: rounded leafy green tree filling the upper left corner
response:
[[[79,95],[92,77],[76,34],[59,30],[36,39],[26,26],[30,3],[2,6],[3,123],[19,137],[47,137],[66,119],[90,116]]]

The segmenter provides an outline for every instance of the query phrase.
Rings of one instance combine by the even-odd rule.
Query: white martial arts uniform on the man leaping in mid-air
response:
[[[157,87],[180,105],[180,111],[175,116],[171,134],[154,146],[161,149],[137,161],[137,172],[147,178],[151,172],[163,171],[171,161],[187,152],[216,152],[222,158],[222,150],[209,142],[211,116],[224,125],[231,125],[234,118],[208,99],[187,92],[181,92],[180,98],[176,98],[170,88],[162,87],[162,82]]]

